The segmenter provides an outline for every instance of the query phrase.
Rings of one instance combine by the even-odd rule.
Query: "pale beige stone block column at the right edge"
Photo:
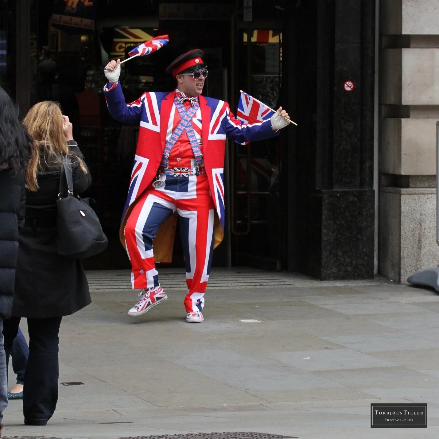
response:
[[[380,1],[378,270],[402,283],[437,266],[437,0]]]

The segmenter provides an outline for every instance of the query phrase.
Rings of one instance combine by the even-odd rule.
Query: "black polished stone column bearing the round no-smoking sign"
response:
[[[291,5],[299,66],[297,270],[321,280],[371,278],[375,1]]]

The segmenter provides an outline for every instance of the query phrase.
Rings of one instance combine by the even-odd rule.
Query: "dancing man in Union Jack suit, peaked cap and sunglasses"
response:
[[[190,50],[168,68],[176,78],[170,93],[144,93],[125,103],[120,60],[104,72],[108,110],[123,123],[140,124],[120,239],[133,267],[140,300],[128,311],[140,316],[167,299],[156,262],[170,262],[179,217],[186,266],[186,320],[204,320],[202,309],[212,250],[223,239],[226,137],[240,143],[276,136],[289,122],[279,110],[264,122],[235,119],[227,102],[202,96],[207,77],[202,50]],[[154,242],[154,249],[153,249]]]

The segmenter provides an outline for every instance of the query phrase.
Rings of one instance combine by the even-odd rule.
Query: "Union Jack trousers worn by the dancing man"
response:
[[[158,286],[153,241],[158,229],[177,211],[186,267],[187,313],[201,311],[209,280],[213,252],[215,206],[206,174],[178,177],[162,176],[164,184],[150,185],[130,213],[125,226],[125,241],[133,267],[133,288]]]

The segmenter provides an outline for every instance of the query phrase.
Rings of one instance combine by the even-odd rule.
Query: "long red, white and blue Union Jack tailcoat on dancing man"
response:
[[[116,86],[104,87],[105,99],[112,117],[126,124],[140,124],[134,166],[131,173],[130,189],[125,204],[127,209],[148,187],[162,160],[166,138],[173,130],[175,90],[171,93],[145,92],[129,104],[125,103],[120,82]],[[202,151],[209,187],[216,213],[224,228],[224,154],[226,138],[239,143],[263,140],[276,136],[270,119],[247,124],[235,119],[229,104],[219,99],[199,95],[201,121],[194,124],[202,128]],[[172,115],[172,117],[171,117]]]

